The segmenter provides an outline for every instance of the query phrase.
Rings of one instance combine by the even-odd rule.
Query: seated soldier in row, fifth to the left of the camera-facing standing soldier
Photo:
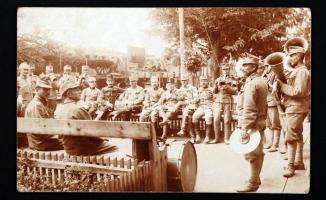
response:
[[[144,101],[144,89],[137,85],[138,77],[130,76],[130,87],[127,88],[115,102],[115,110],[112,119],[124,114],[124,120],[130,120],[132,113],[139,113]]]

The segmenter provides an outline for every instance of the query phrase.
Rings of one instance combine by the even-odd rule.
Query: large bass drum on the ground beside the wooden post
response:
[[[167,145],[168,191],[192,192],[197,177],[197,155],[189,141],[174,141]]]

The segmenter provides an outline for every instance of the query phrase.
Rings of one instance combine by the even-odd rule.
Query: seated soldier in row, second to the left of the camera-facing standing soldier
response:
[[[177,109],[182,110],[182,120],[181,130],[177,134],[184,136],[189,130],[188,118],[191,119],[193,112],[196,110],[196,99],[198,99],[197,88],[188,84],[188,76],[185,74],[181,76],[181,87],[178,89],[178,96]],[[200,140],[200,135],[197,136],[197,139]]]

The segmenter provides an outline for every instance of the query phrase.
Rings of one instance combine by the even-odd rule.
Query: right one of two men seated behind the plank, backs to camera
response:
[[[78,83],[66,81],[59,92],[63,102],[55,111],[56,119],[91,120],[87,110],[77,103],[81,96]],[[97,155],[117,150],[115,145],[99,137],[62,136],[62,141],[64,150],[70,155]]]

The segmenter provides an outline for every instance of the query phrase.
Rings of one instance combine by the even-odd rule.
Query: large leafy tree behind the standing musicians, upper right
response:
[[[186,48],[196,45],[211,57],[215,79],[219,61],[244,52],[265,57],[281,51],[289,27],[310,22],[307,13],[293,8],[185,8]],[[309,11],[308,11],[309,13]],[[175,8],[152,9],[152,33],[179,46],[178,13]],[[309,24],[310,25],[310,24]]]

